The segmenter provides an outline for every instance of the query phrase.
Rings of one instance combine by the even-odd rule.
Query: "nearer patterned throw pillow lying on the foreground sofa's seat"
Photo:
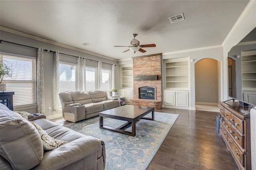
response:
[[[53,149],[60,147],[61,145],[68,143],[66,141],[61,141],[58,139],[54,139],[53,137],[50,137],[46,133],[46,131],[44,131],[39,125],[37,125],[36,123],[34,123],[32,121],[30,121],[30,122],[36,127],[36,129],[38,130],[38,132],[41,136],[43,146],[44,146],[44,151],[53,150]]]

